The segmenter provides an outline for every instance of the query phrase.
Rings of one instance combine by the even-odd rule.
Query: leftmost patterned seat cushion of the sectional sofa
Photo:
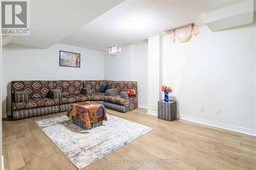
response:
[[[59,104],[58,99],[50,98],[30,98],[27,102],[12,102],[12,110],[33,109],[39,107],[56,106]]]

